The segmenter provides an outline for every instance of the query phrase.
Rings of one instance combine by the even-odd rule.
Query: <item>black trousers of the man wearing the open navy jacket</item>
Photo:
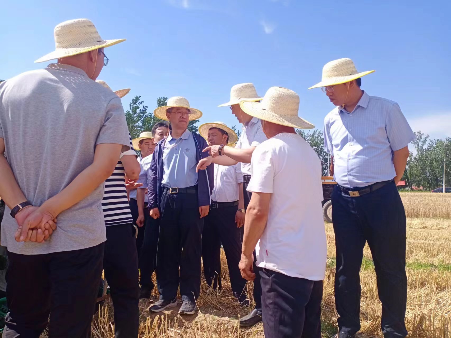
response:
[[[182,300],[194,301],[200,292],[204,221],[199,214],[198,195],[163,192],[161,206],[156,259],[160,299],[174,299],[180,284]]]

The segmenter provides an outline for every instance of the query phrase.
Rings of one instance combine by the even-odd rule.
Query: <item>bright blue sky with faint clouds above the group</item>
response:
[[[42,2],[43,3],[43,2]],[[320,89],[322,66],[349,57],[359,71],[376,69],[362,88],[400,104],[414,131],[451,136],[451,10],[438,1],[77,0],[7,1],[2,5],[0,78],[45,67],[53,29],[89,18],[103,39],[127,38],[105,50],[99,79],[130,87],[150,108],[159,96],[185,96],[202,110],[201,123],[238,122],[230,87],[253,82],[300,96],[299,115],[322,128],[333,108]],[[9,27],[8,30],[5,27]]]

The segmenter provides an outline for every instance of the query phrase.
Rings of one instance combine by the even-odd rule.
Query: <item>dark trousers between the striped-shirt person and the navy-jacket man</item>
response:
[[[160,219],[147,217],[143,245],[139,256],[139,269],[141,270],[141,285],[149,289],[153,289],[152,274],[156,270],[156,249],[159,233]]]

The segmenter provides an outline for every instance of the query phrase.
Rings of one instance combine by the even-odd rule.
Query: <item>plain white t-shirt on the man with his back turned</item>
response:
[[[327,247],[321,162],[304,139],[281,133],[255,148],[249,192],[271,193],[257,265],[291,277],[322,280]]]

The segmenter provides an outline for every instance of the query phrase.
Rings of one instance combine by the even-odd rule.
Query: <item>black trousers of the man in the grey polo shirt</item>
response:
[[[8,252],[9,313],[2,337],[38,338],[47,323],[50,338],[88,337],[104,247],[43,255]]]

